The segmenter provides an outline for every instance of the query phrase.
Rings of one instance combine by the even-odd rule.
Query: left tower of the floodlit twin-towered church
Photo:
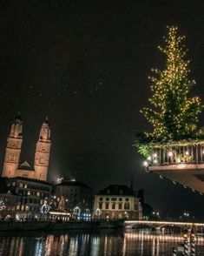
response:
[[[10,135],[7,139],[5,158],[3,162],[3,177],[16,176],[23,142],[22,132],[23,122],[20,114],[18,114],[11,125]]]

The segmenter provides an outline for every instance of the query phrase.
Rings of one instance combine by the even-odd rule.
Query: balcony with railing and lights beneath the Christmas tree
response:
[[[204,193],[204,141],[149,145],[148,172]]]

